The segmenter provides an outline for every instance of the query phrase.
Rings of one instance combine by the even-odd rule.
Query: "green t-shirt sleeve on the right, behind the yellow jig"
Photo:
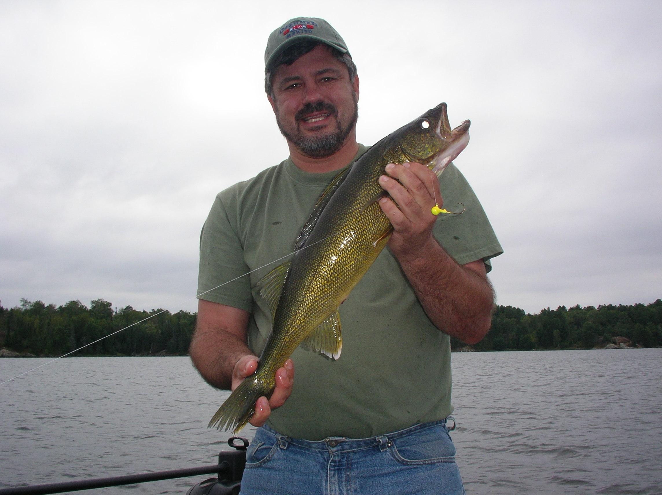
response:
[[[491,258],[503,252],[487,214],[462,173],[450,163],[440,177],[444,208],[461,214],[440,214],[434,236],[457,263],[464,265],[477,259],[485,261],[491,271]]]

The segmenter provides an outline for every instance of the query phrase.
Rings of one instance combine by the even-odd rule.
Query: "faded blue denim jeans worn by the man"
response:
[[[307,441],[262,426],[246,453],[242,494],[465,493],[446,420],[373,438]]]

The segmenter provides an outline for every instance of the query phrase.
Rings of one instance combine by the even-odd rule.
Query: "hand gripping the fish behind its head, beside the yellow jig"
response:
[[[379,184],[392,199],[379,200],[379,206],[393,224],[389,247],[398,258],[422,255],[434,241],[432,206],[443,204],[437,176],[420,163],[389,163],[386,172],[389,175],[379,177]]]

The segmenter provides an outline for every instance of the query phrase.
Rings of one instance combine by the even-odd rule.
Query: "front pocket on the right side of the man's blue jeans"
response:
[[[404,465],[455,462],[455,445],[443,425],[425,428],[389,443],[391,456]]]

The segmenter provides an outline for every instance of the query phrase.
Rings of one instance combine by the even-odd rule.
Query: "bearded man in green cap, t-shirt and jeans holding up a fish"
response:
[[[326,21],[292,19],[269,36],[265,89],[290,156],[220,193],[201,236],[191,359],[232,390],[255,371],[271,330],[257,282],[291,253],[326,185],[367,149],[355,135],[359,77]],[[390,198],[380,205],[394,231],[340,308],[342,356],[300,348],[277,371],[271,398],[256,402],[251,424],[261,428],[242,493],[463,493],[446,429],[449,336],[476,343],[489,330],[487,271],[502,249],[453,165],[441,182],[419,163],[386,167]],[[436,221],[442,195],[465,212]]]

